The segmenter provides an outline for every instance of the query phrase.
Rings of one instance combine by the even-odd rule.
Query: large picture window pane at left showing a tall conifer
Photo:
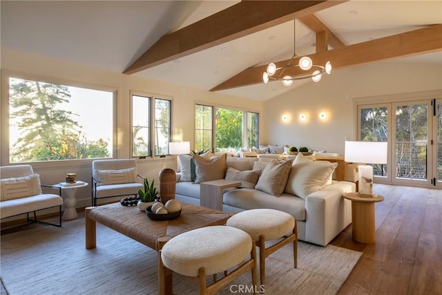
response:
[[[10,163],[113,157],[114,91],[21,77],[7,83]]]

